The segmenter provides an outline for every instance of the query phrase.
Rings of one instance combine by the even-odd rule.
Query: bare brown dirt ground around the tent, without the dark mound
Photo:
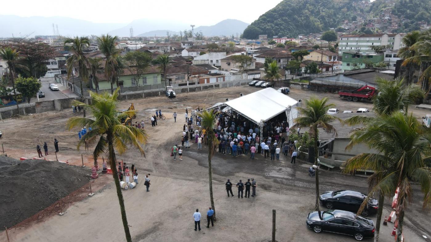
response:
[[[213,89],[204,92],[178,94],[176,99],[166,97],[133,100],[137,110],[136,121],[147,119],[156,109],[161,109],[166,120],[158,120],[156,127],[146,123],[150,134],[145,145],[146,156],[137,150],[129,150],[117,156],[137,167],[140,184],[134,189],[123,190],[130,230],[134,241],[256,241],[270,239],[272,209],[277,211],[277,240],[282,241],[354,241],[353,238],[323,233],[315,234],[305,224],[306,214],[314,203],[314,178],[307,175],[307,162],[290,164],[288,158],[281,157],[277,162],[264,159],[250,161],[242,156],[236,159],[228,155],[215,154],[213,158],[213,190],[217,221],[214,227],[205,228],[205,212],[209,206],[208,169],[206,146],[203,150],[191,148],[184,150],[184,160],[173,161],[169,156],[170,147],[180,142],[184,124],[185,108],[208,107],[226,98],[236,98],[259,89],[249,86]],[[336,94],[310,92],[292,89],[290,97],[306,99],[310,96],[329,97],[341,111],[355,111],[359,107],[371,108],[371,103],[348,102],[339,100]],[[127,108],[130,101],[123,101],[120,109]],[[425,110],[411,107],[417,117],[422,117]],[[172,113],[178,113],[174,123]],[[65,130],[66,120],[73,115],[72,110],[47,112],[16,119],[3,120],[1,129],[5,152],[12,157],[37,156],[36,144],[49,141],[53,148],[53,138],[59,140],[59,160],[68,160],[80,165],[81,153],[84,164],[92,165],[90,151],[76,150],[78,135],[76,130]],[[55,159],[55,156],[48,157]],[[101,164],[101,160],[100,160]],[[88,171],[90,173],[90,171]],[[150,173],[150,192],[143,186],[144,174]],[[254,177],[257,181],[255,198],[238,199],[227,197],[224,184],[230,178],[236,183]],[[104,177],[105,179],[105,177]],[[350,189],[367,192],[366,178],[342,175],[337,171],[322,171],[320,176],[321,192],[326,190]],[[99,181],[97,181],[99,182]],[[30,227],[9,230],[11,242],[37,241],[124,241],[124,232],[119,205],[113,181],[105,179],[103,189],[93,197],[76,202],[66,210],[63,216],[53,215],[45,221]],[[236,189],[233,189],[234,193]],[[431,234],[425,227],[428,216],[422,211],[419,189],[414,190],[417,199],[406,213],[404,235],[408,241],[430,241],[422,235]],[[387,198],[387,204],[390,199]],[[199,208],[203,214],[201,227],[195,232],[192,214]],[[389,211],[385,211],[389,214]],[[375,220],[375,216],[371,217]],[[391,227],[392,225],[392,227]],[[381,241],[393,241],[390,236],[393,224],[382,226]],[[114,231],[114,232],[113,232]],[[113,233],[112,233],[113,232]],[[219,237],[220,236],[220,237]],[[5,233],[0,233],[0,242],[7,241]],[[370,240],[371,241],[371,240]]]

